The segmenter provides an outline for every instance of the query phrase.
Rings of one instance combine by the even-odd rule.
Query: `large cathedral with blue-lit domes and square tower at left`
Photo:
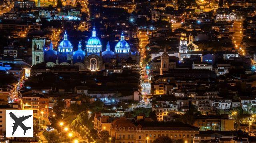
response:
[[[134,60],[140,62],[138,52],[132,52],[129,44],[125,41],[124,33],[121,34],[120,41],[115,46],[114,51],[110,50],[107,43],[106,51],[102,52],[102,43],[96,36],[93,28],[92,36],[86,42],[84,50],[79,42],[78,50],[73,50],[72,43],[68,40],[68,33],[65,31],[64,39],[59,43],[57,51],[54,50],[52,42],[49,48],[45,48],[44,39],[33,39],[32,41],[32,65],[46,63],[47,67],[56,65],[76,65],[80,71],[101,71],[106,64],[122,65],[122,62]]]

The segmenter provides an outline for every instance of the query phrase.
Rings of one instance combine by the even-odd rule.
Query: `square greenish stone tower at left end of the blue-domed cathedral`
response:
[[[32,66],[44,62],[45,39],[36,38],[32,40]]]

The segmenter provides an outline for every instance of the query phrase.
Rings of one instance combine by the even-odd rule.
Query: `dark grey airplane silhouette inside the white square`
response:
[[[26,119],[30,118],[32,115],[28,115],[28,116],[22,116],[22,117],[19,117],[17,118],[17,116],[15,116],[12,112],[9,113],[10,114],[10,117],[15,121],[13,123],[13,130],[12,130],[12,135],[14,135],[15,131],[17,130],[18,126],[20,126],[23,131],[24,131],[24,135],[26,134],[26,131],[28,129],[31,129],[31,127],[26,127],[22,121],[25,121]]]

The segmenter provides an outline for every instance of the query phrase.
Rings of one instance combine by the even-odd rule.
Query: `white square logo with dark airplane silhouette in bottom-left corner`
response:
[[[33,110],[6,110],[6,137],[33,137]]]

